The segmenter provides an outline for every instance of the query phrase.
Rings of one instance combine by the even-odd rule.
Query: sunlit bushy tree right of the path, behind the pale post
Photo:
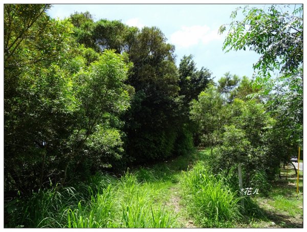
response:
[[[225,81],[226,78],[221,83],[226,85]],[[227,92],[226,86],[224,89]],[[239,91],[236,88],[228,92]],[[190,117],[199,123],[203,141],[211,147],[213,171],[222,170],[228,176],[233,167],[243,163],[244,184],[249,185],[257,171],[266,171],[269,179],[274,178],[283,151],[276,152],[280,134],[274,135],[276,121],[266,112],[265,105],[258,99],[243,99],[227,103],[217,88],[211,86],[199,95],[198,101],[192,101]],[[264,179],[263,184],[266,183]]]

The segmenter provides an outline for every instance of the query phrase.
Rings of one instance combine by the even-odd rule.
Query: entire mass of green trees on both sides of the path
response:
[[[192,55],[177,67],[157,27],[90,12],[52,19],[49,8],[4,8],[5,191],[122,172],[188,154],[193,140],[211,148],[216,172],[243,162],[250,183],[256,170],[273,179],[302,144],[301,7],[234,11],[224,49],[261,54],[254,69],[265,81],[226,72],[217,83]]]

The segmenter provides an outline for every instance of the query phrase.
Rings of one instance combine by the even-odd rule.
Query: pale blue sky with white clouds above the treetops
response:
[[[252,77],[252,65],[259,55],[251,51],[222,50],[226,32],[217,33],[222,24],[231,22],[234,4],[55,4],[49,15],[63,19],[75,11],[89,11],[95,20],[106,18],[121,20],[129,26],[156,26],[161,29],[168,43],[176,47],[177,65],[184,55],[193,55],[196,66],[208,68],[212,76],[220,79],[230,72]],[[258,5],[263,7],[264,5]]]

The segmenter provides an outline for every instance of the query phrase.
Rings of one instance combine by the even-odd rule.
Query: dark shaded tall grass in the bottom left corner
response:
[[[33,192],[28,197],[17,197],[5,206],[7,227],[61,227],[65,223],[65,210],[74,207],[83,197],[73,187]]]

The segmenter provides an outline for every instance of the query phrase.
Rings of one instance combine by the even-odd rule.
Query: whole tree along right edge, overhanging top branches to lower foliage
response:
[[[275,135],[283,136],[288,147],[288,152],[285,148],[279,153],[280,161],[293,147],[302,145],[303,6],[295,5],[292,13],[287,8],[289,5],[237,8],[223,46],[227,51],[249,48],[261,55],[253,65],[255,84],[261,88],[258,97],[277,120]],[[243,13],[241,21],[236,20],[238,12]],[[222,25],[220,32],[228,26]],[[279,75],[270,78],[272,71]]]

